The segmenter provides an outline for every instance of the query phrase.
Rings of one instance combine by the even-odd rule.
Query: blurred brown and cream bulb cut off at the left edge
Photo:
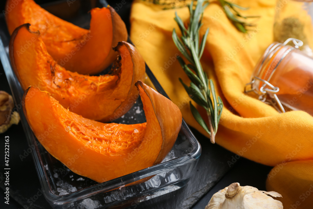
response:
[[[4,133],[12,124],[18,124],[18,112],[12,112],[13,98],[5,91],[0,91],[0,133]]]

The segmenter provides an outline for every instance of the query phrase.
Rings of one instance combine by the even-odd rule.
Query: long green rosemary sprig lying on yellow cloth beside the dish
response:
[[[203,10],[208,6],[208,3],[203,5],[203,0],[198,0],[197,2],[195,9],[193,9],[193,1],[189,5],[190,23],[187,25],[187,28],[176,13],[175,20],[181,30],[182,36],[179,38],[174,29],[172,38],[178,50],[190,62],[186,64],[181,57],[178,57],[182,69],[191,81],[190,86],[187,86],[182,79],[179,78],[179,80],[189,94],[189,97],[206,110],[208,125],[205,123],[196,107],[190,102],[192,115],[204,130],[210,134],[211,142],[215,143],[215,134],[218,129],[219,119],[221,118],[223,102],[220,97],[216,97],[213,81],[208,79],[200,63],[209,29],[207,29],[203,35],[201,43],[199,42],[199,30],[202,26]]]

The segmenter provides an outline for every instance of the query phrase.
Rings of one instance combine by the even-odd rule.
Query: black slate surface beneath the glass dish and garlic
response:
[[[36,1],[39,4],[53,1]],[[118,11],[129,30],[129,15],[131,1]],[[120,1],[108,1],[115,7]],[[5,1],[1,0],[1,11],[4,9]],[[162,82],[161,82],[162,85]],[[2,65],[0,66],[0,90],[10,92]],[[259,190],[265,190],[266,176],[271,169],[252,162],[247,159],[239,159],[234,165],[229,166],[228,161],[235,154],[223,149],[217,144],[210,144],[209,140],[198,131],[192,129],[195,136],[202,145],[202,154],[199,159],[194,175],[187,185],[170,194],[154,198],[140,203],[136,208],[204,208],[212,195],[220,189],[233,182],[241,185],[251,185]],[[0,156],[4,156],[4,136],[10,136],[10,205],[4,204],[4,193],[0,192],[0,208],[51,208],[43,196],[32,201],[32,197],[41,189],[33,159],[28,155],[21,161],[19,155],[28,149],[22,125],[13,125],[8,132],[0,134],[1,148]],[[1,168],[4,167],[4,159],[0,158]],[[214,185],[214,186],[213,186]],[[212,187],[213,186],[213,187]],[[4,187],[3,169],[0,170],[0,187]]]

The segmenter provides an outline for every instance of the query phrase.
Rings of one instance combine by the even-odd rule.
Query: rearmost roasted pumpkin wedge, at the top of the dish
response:
[[[7,5],[15,2],[8,0]],[[90,13],[89,30],[54,16],[33,0],[19,0],[5,17],[10,34],[18,26],[29,23],[31,30],[42,34],[48,53],[59,65],[72,72],[94,75],[116,59],[112,47],[127,40],[127,30],[110,6],[94,8]]]

